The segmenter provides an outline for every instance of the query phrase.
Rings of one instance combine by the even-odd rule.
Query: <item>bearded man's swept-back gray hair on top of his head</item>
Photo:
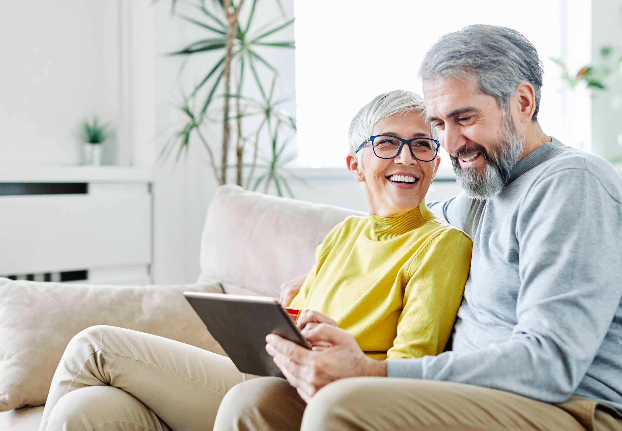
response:
[[[521,33],[496,25],[467,25],[448,33],[425,53],[419,78],[431,81],[444,76],[475,78],[480,91],[493,96],[504,112],[516,87],[528,82],[536,90],[537,121],[544,70],[536,47]]]

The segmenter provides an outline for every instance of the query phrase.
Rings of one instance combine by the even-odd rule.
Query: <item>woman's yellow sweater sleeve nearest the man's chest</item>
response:
[[[412,276],[404,289],[397,336],[389,359],[420,358],[443,351],[462,301],[473,243],[448,228],[414,256]]]

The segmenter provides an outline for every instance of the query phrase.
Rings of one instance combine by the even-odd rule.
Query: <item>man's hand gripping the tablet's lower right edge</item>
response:
[[[270,334],[266,336],[266,351],[305,401],[309,402],[315,392],[338,379],[386,377],[386,363],[365,356],[350,333],[328,323],[307,323],[301,333],[312,346],[322,346],[322,350],[305,349]]]

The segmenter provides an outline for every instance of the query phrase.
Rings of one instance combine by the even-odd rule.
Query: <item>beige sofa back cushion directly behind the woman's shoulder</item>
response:
[[[223,185],[207,211],[198,283],[220,282],[231,294],[279,296],[281,283],[309,271],[315,248],[349,215],[367,216]]]

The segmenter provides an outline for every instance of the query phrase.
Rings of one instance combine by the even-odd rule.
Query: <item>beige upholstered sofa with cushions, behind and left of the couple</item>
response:
[[[223,186],[205,220],[196,284],[98,286],[0,278],[0,431],[39,429],[54,369],[68,341],[84,328],[114,325],[224,354],[182,292],[278,296],[282,282],[310,269],[328,231],[353,214],[365,215]]]

